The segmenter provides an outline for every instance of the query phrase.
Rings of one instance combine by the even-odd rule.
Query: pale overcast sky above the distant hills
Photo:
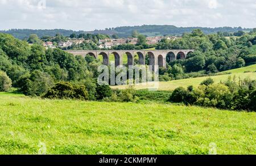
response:
[[[0,0],[0,29],[256,27],[255,0]]]

